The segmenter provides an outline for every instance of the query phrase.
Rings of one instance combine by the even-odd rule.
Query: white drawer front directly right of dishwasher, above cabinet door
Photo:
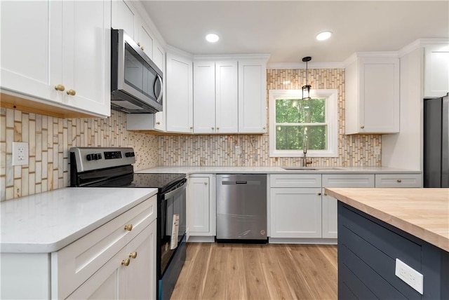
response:
[[[321,187],[321,174],[272,174],[270,187]]]

